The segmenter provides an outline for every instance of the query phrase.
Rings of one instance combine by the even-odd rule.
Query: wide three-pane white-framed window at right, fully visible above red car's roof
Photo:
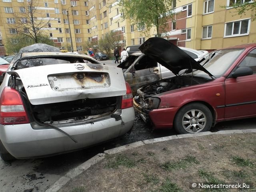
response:
[[[224,37],[248,35],[250,19],[225,23]]]

